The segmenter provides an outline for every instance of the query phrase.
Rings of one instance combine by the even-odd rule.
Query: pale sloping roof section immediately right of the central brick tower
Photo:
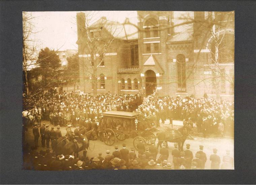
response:
[[[166,42],[180,42],[180,41],[192,41],[193,40],[193,28],[188,28],[187,30],[179,33],[175,33],[167,38]]]

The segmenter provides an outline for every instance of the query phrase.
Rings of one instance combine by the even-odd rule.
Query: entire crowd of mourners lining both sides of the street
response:
[[[72,126],[78,130],[85,128],[87,131],[94,129],[97,132],[101,113],[111,110],[138,113],[138,129],[142,130],[160,126],[160,123],[168,123],[168,121],[172,124],[172,120],[183,120],[184,126],[191,125],[192,128],[196,125],[197,131],[204,137],[214,133],[223,136],[233,129],[233,102],[223,100],[217,102],[215,99],[207,97],[195,99],[193,96],[185,98],[180,96],[176,98],[158,97],[155,91],[153,96],[146,99],[147,101],[143,100],[143,96],[141,90],[137,95],[114,95],[108,92],[94,97],[91,94],[80,95],[74,92],[60,91],[58,93],[56,90],[50,89],[45,94],[24,97],[24,109],[33,109],[36,110],[35,113],[42,113],[42,118],[50,121],[52,125],[51,130],[48,128],[49,125],[46,125],[45,128],[45,124],[34,126],[35,147],[38,146],[38,138],[41,136],[41,144],[45,147],[46,140],[47,149],[46,151],[41,150],[39,153],[36,150],[24,150],[24,168],[36,170],[204,169],[207,158],[201,150],[203,147],[201,145],[200,151],[195,154],[193,159],[189,144],[186,145],[187,150],[180,152],[175,143],[175,149],[172,150],[172,163],[168,163],[169,152],[165,147],[166,143],[163,143],[164,147],[160,149],[158,159],[156,157],[158,150],[153,142],[148,148],[142,146],[141,142],[137,154],[134,148],[128,150],[124,144],[120,151],[115,148],[112,155],[107,150],[104,158],[99,153],[99,156],[91,159],[57,156],[50,148],[50,140],[62,136],[61,127],[68,126],[70,128]],[[57,129],[54,130],[56,127]],[[47,137],[45,137],[46,135]],[[223,157],[221,167],[220,157],[216,154],[217,149],[214,149],[213,152],[213,155],[210,156],[211,169],[233,168],[233,160],[228,156],[229,151],[227,151],[227,156]]]

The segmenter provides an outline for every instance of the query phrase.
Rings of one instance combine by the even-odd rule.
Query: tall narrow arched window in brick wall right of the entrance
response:
[[[186,59],[182,54],[177,55],[177,90],[186,91]]]

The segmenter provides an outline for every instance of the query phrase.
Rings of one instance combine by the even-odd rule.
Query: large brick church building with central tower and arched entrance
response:
[[[89,26],[90,34],[113,37],[111,46],[103,55],[96,54],[97,91],[113,94],[137,94],[141,86],[146,94],[157,88],[159,96],[195,95],[205,93],[216,96],[214,75],[217,70],[224,71],[220,79],[220,96],[233,99],[234,80],[234,15],[233,12],[216,12],[216,19],[225,23],[225,29],[218,29],[221,38],[218,65],[213,64],[213,36],[201,22],[181,24],[179,16],[173,11],[137,11],[137,27],[101,17]],[[208,12],[191,12],[194,20],[206,20]],[[231,16],[230,16],[231,15]],[[83,49],[86,42],[81,27],[85,27],[85,13],[77,13],[77,35],[80,90],[93,93],[90,70],[87,63],[88,51]],[[108,23],[102,26],[102,22]],[[205,21],[206,22],[206,21]],[[109,25],[116,26],[110,29]],[[171,25],[180,26],[168,27]],[[99,29],[100,27],[100,29]],[[85,66],[87,68],[85,69]],[[218,68],[218,69],[217,69]]]

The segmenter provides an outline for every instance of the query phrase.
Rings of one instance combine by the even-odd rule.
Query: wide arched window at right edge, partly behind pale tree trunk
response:
[[[219,63],[233,63],[234,62],[234,35],[233,34],[225,34],[220,35],[217,41],[218,44],[218,62]],[[215,50],[216,50],[215,41],[212,42],[211,46],[211,54],[212,54],[212,63],[215,64]]]

